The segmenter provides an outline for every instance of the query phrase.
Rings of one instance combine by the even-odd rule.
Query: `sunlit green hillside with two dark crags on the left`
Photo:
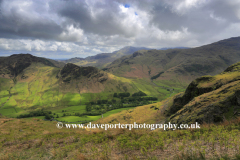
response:
[[[159,93],[158,88],[140,80],[117,77],[95,67],[79,67],[68,63],[58,68],[54,61],[19,54],[4,57],[0,77],[0,114],[16,117],[35,110],[51,110],[61,118],[68,115],[74,120],[92,120],[100,116],[76,116],[86,111],[91,103],[94,115],[119,111],[139,106],[141,102],[124,104],[114,93],[136,93],[143,91],[148,96],[164,98],[170,92]],[[61,63],[60,63],[61,64]],[[109,108],[109,104],[117,104]],[[62,112],[64,110],[64,113]],[[93,114],[89,111],[88,114]],[[116,113],[116,112],[115,112]],[[56,116],[55,116],[56,117]],[[60,118],[60,117],[59,117]],[[64,120],[65,117],[63,117]]]

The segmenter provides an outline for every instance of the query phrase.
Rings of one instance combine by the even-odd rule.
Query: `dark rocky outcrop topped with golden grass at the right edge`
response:
[[[192,81],[165,114],[173,123],[216,123],[240,116],[240,62]]]

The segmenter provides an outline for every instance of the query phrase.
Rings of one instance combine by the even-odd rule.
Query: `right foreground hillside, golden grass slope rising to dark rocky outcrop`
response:
[[[240,62],[215,76],[192,81],[185,92],[129,109],[96,123],[219,123],[240,118]]]

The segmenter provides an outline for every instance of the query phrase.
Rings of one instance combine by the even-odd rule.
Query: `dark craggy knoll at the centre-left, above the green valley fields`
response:
[[[79,67],[72,63],[66,64],[56,77],[60,81],[59,90],[63,93],[125,92],[132,88],[130,84],[116,81],[114,76],[96,67]]]

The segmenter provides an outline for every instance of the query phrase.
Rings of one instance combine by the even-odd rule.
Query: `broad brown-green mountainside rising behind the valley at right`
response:
[[[103,70],[158,85],[187,86],[203,75],[215,75],[240,61],[240,37],[189,49],[141,50],[113,61]]]

